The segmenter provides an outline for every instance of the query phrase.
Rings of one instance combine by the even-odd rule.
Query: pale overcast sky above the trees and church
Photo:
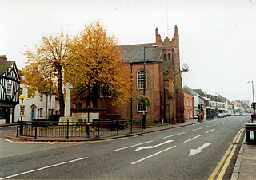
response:
[[[190,65],[183,85],[252,100],[247,82],[256,84],[256,0],[1,0],[0,54],[21,69],[21,52],[42,35],[74,35],[96,20],[119,45],[154,42],[156,27],[162,39],[171,38],[178,25],[181,61]]]

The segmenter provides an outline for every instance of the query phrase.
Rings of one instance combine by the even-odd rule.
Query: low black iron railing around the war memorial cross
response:
[[[93,123],[18,121],[16,136],[34,139],[91,139],[142,131],[141,120],[109,120]]]

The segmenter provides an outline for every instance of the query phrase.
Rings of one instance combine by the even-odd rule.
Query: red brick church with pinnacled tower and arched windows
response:
[[[179,56],[178,27],[174,36],[164,41],[155,29],[155,42],[139,45],[122,45],[122,59],[130,64],[130,74],[134,96],[127,104],[107,108],[108,114],[121,115],[122,119],[142,119],[143,107],[137,103],[138,96],[143,95],[144,61],[146,69],[145,94],[150,99],[146,108],[146,121],[158,122],[163,119],[170,123],[184,122],[184,99]]]

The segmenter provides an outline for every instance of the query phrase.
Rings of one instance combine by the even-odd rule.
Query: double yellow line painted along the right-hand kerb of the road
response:
[[[209,180],[223,178],[224,174],[226,173],[226,169],[230,164],[230,160],[234,155],[234,151],[237,148],[237,145],[234,143],[239,143],[243,131],[244,131],[244,129],[242,128],[242,129],[240,129],[240,131],[238,131],[238,134],[235,135],[235,137],[233,139],[233,143],[230,145],[229,149],[226,151],[225,155],[222,157],[220,162],[218,162],[218,166],[216,166],[214,172],[210,175],[210,178],[208,178]],[[218,172],[219,172],[219,174],[218,174]],[[217,177],[217,175],[218,175],[218,177]]]

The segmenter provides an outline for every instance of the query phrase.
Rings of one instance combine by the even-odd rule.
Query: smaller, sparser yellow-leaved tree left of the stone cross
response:
[[[70,58],[69,35],[59,33],[57,36],[43,36],[40,45],[35,50],[28,50],[26,55],[28,62],[22,69],[24,79],[22,83],[30,91],[48,92],[52,87],[58,89],[60,103],[60,115],[64,115],[63,97],[63,73],[66,61]]]

